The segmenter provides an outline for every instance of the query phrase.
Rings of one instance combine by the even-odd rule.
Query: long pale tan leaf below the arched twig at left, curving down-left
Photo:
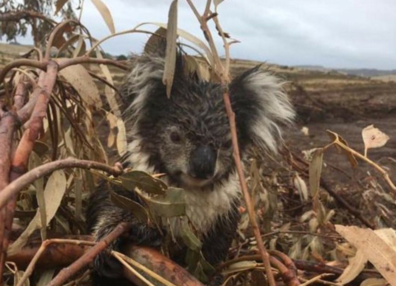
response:
[[[46,222],[47,225],[55,216],[59,205],[61,204],[63,194],[66,191],[66,176],[62,170],[54,171],[49,176],[46,187],[44,189],[44,201],[46,205]],[[25,245],[29,236],[41,227],[40,208],[37,210],[36,215],[30,221],[29,225],[18,237],[18,239],[8,248],[8,254],[15,254]]]

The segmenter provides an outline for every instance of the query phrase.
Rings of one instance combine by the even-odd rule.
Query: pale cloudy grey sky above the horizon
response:
[[[116,31],[143,22],[166,22],[171,2],[103,1]],[[201,12],[205,2],[194,1]],[[223,30],[240,41],[231,46],[232,58],[282,65],[396,69],[394,0],[225,0],[218,13]],[[178,15],[179,28],[204,39],[185,0],[178,2]],[[90,0],[84,1],[82,23],[96,38],[110,33]],[[152,25],[145,28],[156,29]],[[115,55],[139,53],[147,38],[147,34],[118,36],[102,47]],[[221,39],[216,39],[223,55]]]

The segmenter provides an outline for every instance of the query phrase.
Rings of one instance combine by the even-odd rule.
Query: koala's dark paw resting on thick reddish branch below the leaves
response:
[[[133,244],[157,247],[164,240],[164,235],[165,230],[160,231],[156,227],[138,224],[129,230],[128,239]]]

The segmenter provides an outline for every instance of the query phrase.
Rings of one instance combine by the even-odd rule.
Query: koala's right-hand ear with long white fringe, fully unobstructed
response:
[[[280,127],[295,117],[282,82],[256,66],[231,82],[230,100],[242,139],[276,153]]]

